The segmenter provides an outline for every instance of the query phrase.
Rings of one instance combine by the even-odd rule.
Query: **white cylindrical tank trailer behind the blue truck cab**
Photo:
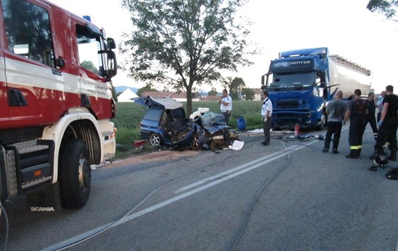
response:
[[[362,95],[372,91],[371,72],[356,63],[350,62],[339,55],[328,55],[330,93],[336,88],[343,91],[343,98],[354,95],[355,89],[360,89]]]

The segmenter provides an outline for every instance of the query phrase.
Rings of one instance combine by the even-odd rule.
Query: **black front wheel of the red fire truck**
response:
[[[63,208],[82,208],[91,186],[91,165],[87,147],[81,139],[70,139],[60,154],[60,196]]]

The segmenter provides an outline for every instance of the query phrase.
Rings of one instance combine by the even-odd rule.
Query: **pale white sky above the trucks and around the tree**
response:
[[[117,43],[129,33],[129,12],[119,0],[50,0],[77,15],[89,15],[103,27],[107,37]],[[252,22],[249,41],[262,48],[261,55],[250,56],[253,65],[239,68],[225,77],[242,78],[247,87],[259,88],[261,75],[280,51],[328,47],[338,54],[372,70],[372,88],[381,92],[386,85],[398,88],[398,22],[387,21],[366,9],[368,0],[249,0],[240,15]],[[111,3],[111,4],[109,4]],[[116,51],[116,53],[118,53]],[[117,55],[119,62],[122,55]],[[142,87],[118,70],[114,86]],[[221,91],[220,85],[215,85]],[[209,91],[210,87],[200,90]]]

